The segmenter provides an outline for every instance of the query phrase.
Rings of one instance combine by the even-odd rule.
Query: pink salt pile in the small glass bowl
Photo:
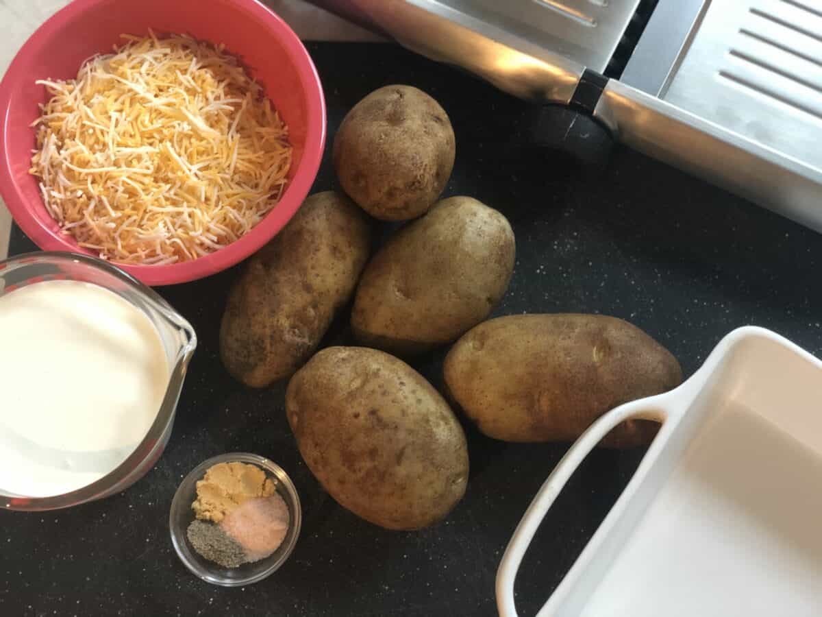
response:
[[[248,561],[265,559],[283,543],[289,531],[289,507],[279,494],[247,499],[219,523],[242,545]]]

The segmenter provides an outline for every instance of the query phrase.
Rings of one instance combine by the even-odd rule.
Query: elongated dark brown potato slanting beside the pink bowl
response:
[[[348,197],[332,191],[308,197],[248,260],[229,293],[219,330],[229,373],[265,387],[304,364],[351,298],[370,237],[370,221]]]

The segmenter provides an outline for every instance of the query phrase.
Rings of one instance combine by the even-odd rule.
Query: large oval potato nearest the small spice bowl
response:
[[[285,406],[308,468],[368,522],[420,529],[462,499],[469,471],[463,429],[402,360],[365,347],[321,350],[289,382]]]

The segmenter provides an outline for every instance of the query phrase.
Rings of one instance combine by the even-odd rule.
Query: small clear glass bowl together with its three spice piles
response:
[[[255,454],[201,463],[174,495],[174,549],[198,577],[226,587],[266,578],[288,559],[299,535],[299,498],[289,476]]]

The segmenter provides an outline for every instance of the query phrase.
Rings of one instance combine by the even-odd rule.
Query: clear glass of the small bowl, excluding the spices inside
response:
[[[193,549],[186,533],[188,526],[194,520],[192,502],[196,499],[197,481],[202,480],[205,471],[211,466],[221,462],[244,462],[260,467],[263,471],[266,471],[266,474],[272,480],[275,480],[277,492],[289,507],[289,531],[286,532],[283,543],[279,545],[279,548],[266,559],[260,559],[253,564],[242,564],[239,568],[224,568],[201,557]],[[300,498],[289,475],[283,471],[282,467],[270,462],[267,458],[247,452],[229,452],[201,462],[182,480],[177,492],[174,494],[171,513],[169,514],[171,543],[174,545],[174,550],[177,551],[182,563],[205,582],[223,587],[250,585],[252,582],[261,581],[275,572],[285,563],[286,559],[289,559],[294,545],[297,544],[301,525]]]

